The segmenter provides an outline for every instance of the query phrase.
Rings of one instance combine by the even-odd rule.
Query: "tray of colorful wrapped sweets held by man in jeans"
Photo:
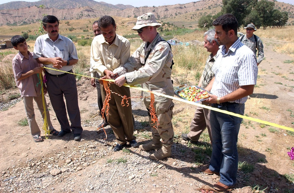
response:
[[[207,90],[204,90],[198,86],[188,86],[182,89],[179,89],[174,92],[179,98],[192,101],[200,102],[209,98],[208,93],[211,93]]]

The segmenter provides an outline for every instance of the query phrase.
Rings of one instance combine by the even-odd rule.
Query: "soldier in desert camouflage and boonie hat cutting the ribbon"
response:
[[[132,85],[143,84],[144,89],[173,96],[174,90],[171,81],[173,55],[169,44],[157,33],[159,26],[161,24],[156,22],[153,13],[138,17],[133,30],[138,32],[144,42],[126,64],[113,71],[113,73],[117,72],[119,75],[115,80],[116,85],[122,86],[125,82]],[[157,129],[155,129],[149,113],[150,93],[145,92],[144,94],[144,103],[148,109],[153,139],[150,143],[141,145],[140,148],[144,151],[159,149],[151,154],[150,158],[161,160],[171,156],[174,134],[171,119],[174,104],[172,99],[155,95],[154,108],[159,123]],[[162,142],[160,139],[162,139]]]

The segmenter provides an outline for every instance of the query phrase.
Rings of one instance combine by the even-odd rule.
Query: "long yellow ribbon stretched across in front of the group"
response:
[[[51,69],[51,70],[56,70],[56,71],[60,71],[60,72],[64,72],[64,73],[74,74],[74,73],[71,73],[71,72],[61,71],[61,70],[57,70],[57,69],[52,69],[52,68],[47,68],[47,67],[44,67],[44,68]],[[85,75],[81,75],[81,74],[74,74],[74,75],[77,75],[77,76],[85,76]],[[85,76],[85,77],[94,78],[94,77],[91,77],[91,76]],[[98,78],[95,78],[95,79],[98,79]],[[114,82],[113,79],[101,79],[101,80],[106,80],[106,81]],[[250,121],[255,121],[255,122],[258,122],[258,123],[265,124],[265,125],[270,125],[270,126],[273,126],[273,127],[278,127],[280,129],[285,129],[285,130],[294,132],[294,129],[291,128],[291,127],[286,127],[286,126],[279,125],[279,124],[276,124],[276,123],[272,123],[272,122],[268,122],[268,121],[263,121],[261,119],[256,119],[256,118],[253,118],[253,117],[247,117],[247,116],[244,116],[244,115],[240,115],[240,114],[228,112],[228,111],[225,111],[225,110],[221,110],[221,109],[218,109],[218,108],[206,106],[206,105],[199,104],[199,103],[192,102],[192,101],[188,101],[188,100],[185,100],[185,99],[176,98],[174,96],[169,96],[169,95],[161,94],[161,93],[157,93],[157,92],[151,92],[151,91],[149,91],[147,89],[143,89],[143,88],[137,87],[137,86],[132,86],[132,85],[129,85],[129,84],[126,84],[126,83],[123,84],[123,86],[130,87],[130,88],[137,89],[137,90],[141,90],[141,91],[144,91],[144,92],[150,92],[150,93],[153,93],[153,94],[155,94],[157,96],[164,96],[166,98],[174,99],[174,100],[181,101],[181,102],[184,102],[184,103],[188,103],[188,104],[191,104],[191,105],[195,105],[195,106],[198,106],[198,107],[210,109],[210,110],[217,111],[217,112],[220,112],[220,113],[229,114],[229,115],[232,115],[232,116],[235,116],[235,117],[240,117],[242,119],[247,119],[247,120],[250,120]]]

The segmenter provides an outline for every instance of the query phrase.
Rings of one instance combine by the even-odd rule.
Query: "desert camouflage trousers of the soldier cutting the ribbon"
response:
[[[144,104],[148,109],[149,116],[149,124],[151,126],[152,136],[160,136],[163,141],[163,144],[173,144],[173,124],[171,123],[171,119],[173,118],[173,101],[163,102],[163,103],[154,103],[154,108],[156,111],[156,116],[158,119],[159,125],[157,129],[153,126],[158,123],[153,123],[150,117],[150,101],[144,100]]]

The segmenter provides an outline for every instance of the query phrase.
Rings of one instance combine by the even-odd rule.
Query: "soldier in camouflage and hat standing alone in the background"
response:
[[[257,57],[257,66],[260,64],[260,62],[263,60],[263,44],[261,39],[254,35],[253,32],[256,31],[256,27],[253,24],[248,24],[246,27],[246,36],[240,36],[240,41],[247,47],[249,47],[255,54],[258,50],[258,57]],[[257,50],[256,50],[257,49]]]

